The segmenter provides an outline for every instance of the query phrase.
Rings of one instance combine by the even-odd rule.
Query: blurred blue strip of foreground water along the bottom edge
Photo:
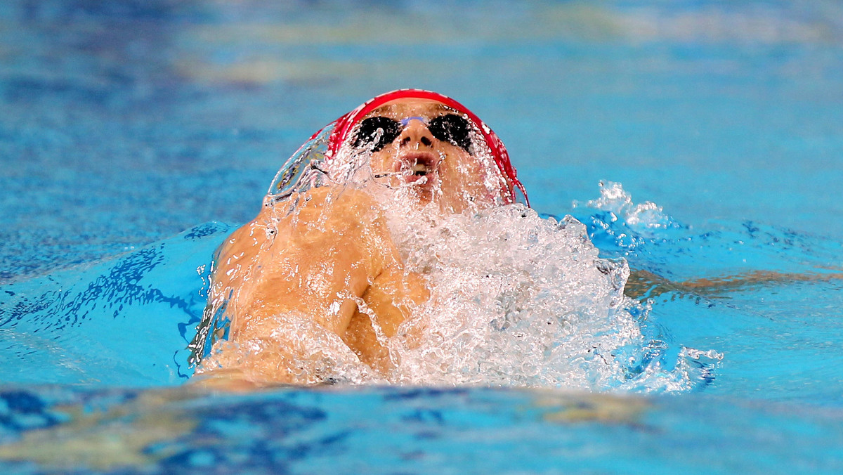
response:
[[[843,468],[839,411],[705,397],[480,388],[276,388],[248,395],[41,388],[2,391],[0,402],[0,469],[15,473]],[[30,429],[24,422],[39,417],[62,424]],[[16,421],[30,431],[9,443]]]

